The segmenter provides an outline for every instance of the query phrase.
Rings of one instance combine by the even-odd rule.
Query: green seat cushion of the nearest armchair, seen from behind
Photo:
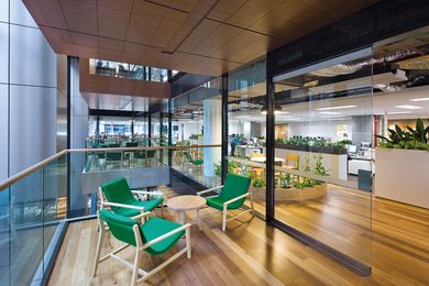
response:
[[[180,227],[182,224],[169,220],[150,218],[143,226],[140,227],[143,243],[160,238],[161,235]],[[145,251],[152,255],[163,254],[168,251],[184,234],[185,230],[179,231],[172,237],[168,237],[165,240],[162,240],[158,243],[155,243],[152,246],[145,249]]]

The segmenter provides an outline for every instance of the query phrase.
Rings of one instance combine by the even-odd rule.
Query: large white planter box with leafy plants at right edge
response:
[[[376,148],[377,197],[429,208],[429,152]]]

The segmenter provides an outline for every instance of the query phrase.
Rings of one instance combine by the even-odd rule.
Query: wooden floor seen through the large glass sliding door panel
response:
[[[371,264],[371,194],[327,186],[327,195],[312,200],[276,201],[275,217],[316,240]],[[287,191],[287,190],[284,190]],[[265,204],[255,201],[265,212]]]

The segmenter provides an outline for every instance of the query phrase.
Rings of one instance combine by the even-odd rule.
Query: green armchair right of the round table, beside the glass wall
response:
[[[251,184],[251,179],[245,176],[228,174],[227,179],[223,186],[206,189],[198,191],[197,195],[201,196],[207,193],[215,191],[220,189],[219,195],[206,197],[207,206],[222,211],[222,231],[227,229],[227,222],[235,219],[246,212],[253,211],[253,198],[252,194],[249,193],[249,187]],[[239,215],[228,218],[228,210],[241,209],[244,205],[246,197],[250,198],[251,208],[243,210]]]

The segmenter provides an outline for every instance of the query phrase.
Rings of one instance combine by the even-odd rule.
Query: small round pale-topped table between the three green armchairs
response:
[[[199,210],[206,206],[206,199],[198,196],[177,196],[168,199],[167,207],[178,212],[177,222],[185,224],[185,211],[197,210],[198,228],[201,230],[201,219],[199,218]]]

